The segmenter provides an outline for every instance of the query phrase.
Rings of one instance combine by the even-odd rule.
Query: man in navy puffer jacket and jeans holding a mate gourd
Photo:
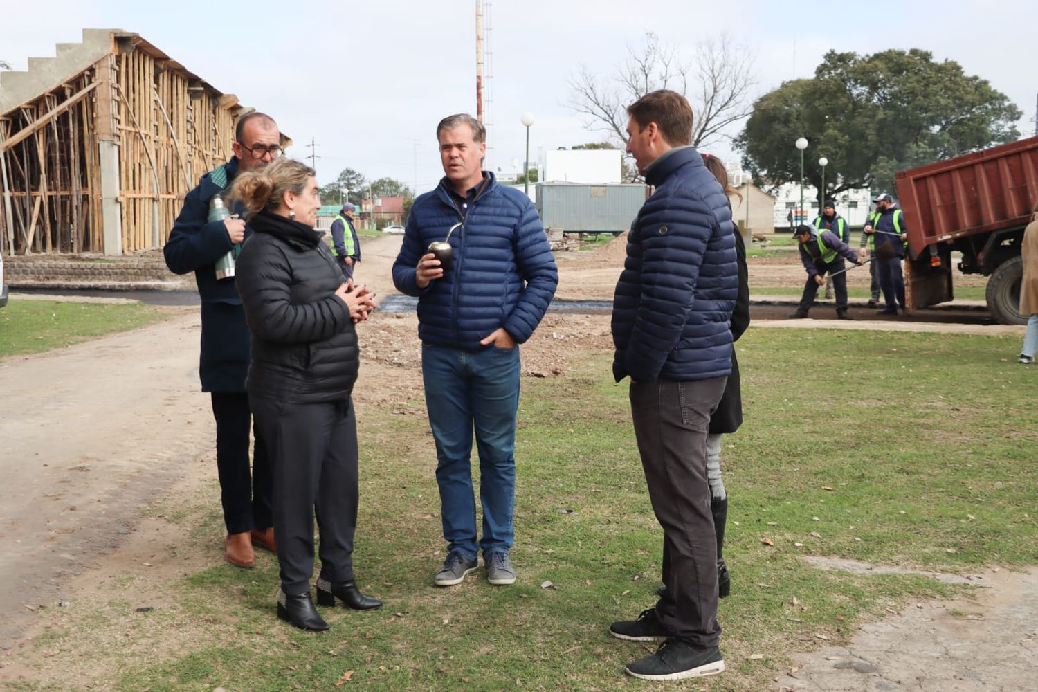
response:
[[[519,347],[544,316],[558,271],[529,197],[483,170],[486,130],[470,115],[436,129],[446,174],[414,200],[393,264],[397,288],[418,298],[421,375],[436,440],[447,558],[437,586],[461,583],[483,550],[491,584],[515,582],[509,559],[515,506]],[[457,226],[457,227],[456,227]],[[453,230],[452,230],[453,229]],[[428,251],[449,233],[449,266]],[[469,456],[480,453],[483,537],[476,543]]]

